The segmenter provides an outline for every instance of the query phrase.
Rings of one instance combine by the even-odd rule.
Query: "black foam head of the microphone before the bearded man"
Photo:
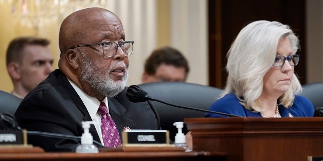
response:
[[[139,86],[131,85],[127,90],[126,96],[131,102],[145,102],[147,101],[148,94]]]

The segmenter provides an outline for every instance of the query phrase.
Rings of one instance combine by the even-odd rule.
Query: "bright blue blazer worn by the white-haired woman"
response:
[[[282,117],[313,117],[314,107],[312,103],[303,96],[295,95],[293,105],[286,109],[283,105],[278,106]],[[234,94],[227,94],[214,102],[209,108],[210,111],[234,114],[243,117],[261,117],[261,113],[251,112],[244,108]],[[206,113],[205,117],[229,117],[213,113]]]

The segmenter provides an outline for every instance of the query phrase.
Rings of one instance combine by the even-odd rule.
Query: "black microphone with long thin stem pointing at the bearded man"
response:
[[[219,115],[225,115],[225,116],[230,116],[230,117],[242,117],[239,115],[234,115],[234,114],[227,114],[227,113],[222,113],[222,112],[216,112],[216,111],[210,111],[210,110],[204,110],[204,109],[198,109],[198,108],[193,108],[193,107],[186,107],[186,106],[178,106],[178,105],[172,105],[160,100],[157,100],[155,98],[150,97],[147,92],[143,91],[139,86],[137,85],[131,85],[126,94],[127,98],[131,102],[145,102],[145,101],[157,101],[162,104],[166,104],[169,106],[174,106],[178,108],[183,108],[183,109],[189,109],[189,110],[195,110],[195,111],[201,111],[201,112],[208,112],[208,113],[213,113],[213,114],[219,114]]]

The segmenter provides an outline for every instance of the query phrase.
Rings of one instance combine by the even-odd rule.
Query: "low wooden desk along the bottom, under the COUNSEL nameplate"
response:
[[[226,160],[223,152],[192,151],[177,148],[100,149],[99,153],[44,152],[39,147],[0,147],[0,160]]]

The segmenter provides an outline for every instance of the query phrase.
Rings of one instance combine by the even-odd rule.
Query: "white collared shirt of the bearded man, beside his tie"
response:
[[[69,78],[67,78],[68,81],[70,82],[70,84],[72,85],[72,87],[74,88],[74,90],[76,91],[76,93],[79,95],[79,97],[81,98],[81,100],[83,101],[83,104],[85,105],[88,113],[91,116],[91,119],[94,119],[95,114],[97,113],[97,110],[99,109],[99,105],[100,105],[100,101],[97,100],[94,97],[91,97],[87,94],[85,94],[78,86],[76,86]],[[104,99],[102,100],[102,102],[105,103],[106,107],[109,107],[107,104],[107,98],[104,97]],[[107,108],[108,112],[109,112],[109,108]]]

